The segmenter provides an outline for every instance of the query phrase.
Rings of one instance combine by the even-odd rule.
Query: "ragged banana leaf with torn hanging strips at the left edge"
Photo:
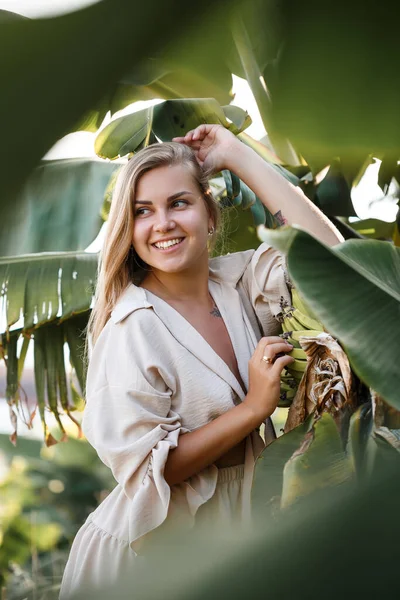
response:
[[[5,325],[0,334],[0,353],[7,367],[6,398],[14,432],[17,417],[28,414],[31,426],[36,408],[43,423],[45,442],[55,443],[46,423],[46,407],[65,435],[60,408],[76,424],[71,410],[81,406],[85,390],[84,330],[94,293],[97,254],[46,253],[0,259],[0,286],[5,306]],[[26,403],[21,376],[27,347],[34,339],[37,404]],[[19,349],[19,341],[22,345]],[[72,371],[70,383],[64,362],[68,346]],[[77,388],[75,380],[78,381]],[[47,402],[46,402],[47,399]],[[64,438],[65,439],[65,438]]]

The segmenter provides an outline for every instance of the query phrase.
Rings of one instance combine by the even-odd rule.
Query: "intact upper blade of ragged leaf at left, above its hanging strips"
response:
[[[60,252],[0,259],[4,333],[22,317],[30,331],[56,318],[65,320],[90,307],[97,254]]]

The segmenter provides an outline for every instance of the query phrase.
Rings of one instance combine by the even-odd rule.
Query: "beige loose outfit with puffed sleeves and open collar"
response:
[[[247,389],[257,342],[280,331],[280,298],[290,300],[284,259],[267,244],[210,259],[209,290]],[[118,485],[76,535],[61,598],[118,579],[146,556],[146,540],[163,523],[176,520],[190,530],[200,517],[250,518],[254,461],[264,447],[257,430],[246,439],[244,465],[210,465],[171,487],[163,476],[181,434],[244,397],[232,371],[184,317],[144,288],[128,286],[93,350],[83,418],[85,436]]]

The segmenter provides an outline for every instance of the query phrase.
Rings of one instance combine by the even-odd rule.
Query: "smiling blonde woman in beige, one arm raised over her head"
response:
[[[292,362],[276,318],[290,292],[283,258],[267,244],[209,259],[219,213],[205,173],[223,168],[282,224],[341,241],[301,191],[222,126],[154,144],[124,166],[89,326],[83,420],[118,485],[75,538],[62,598],[111,583],[168,526],[249,518],[259,428]]]

